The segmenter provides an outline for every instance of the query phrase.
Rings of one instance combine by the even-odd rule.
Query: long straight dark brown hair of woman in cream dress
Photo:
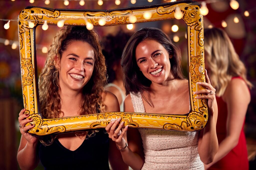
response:
[[[170,58],[173,76],[175,79],[184,79],[179,47],[175,45],[162,30],[158,28],[142,28],[132,35],[122,54],[121,65],[124,72],[126,95],[129,93],[136,94],[138,92],[143,94],[143,91],[149,90],[152,83],[139,70],[135,57],[136,47],[146,39],[157,41],[164,46],[169,55],[173,55],[173,57]]]

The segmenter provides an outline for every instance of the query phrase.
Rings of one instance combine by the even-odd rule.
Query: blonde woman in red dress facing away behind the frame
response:
[[[204,32],[205,63],[218,104],[219,149],[205,169],[248,169],[244,119],[250,103],[246,68],[227,33],[219,28]]]

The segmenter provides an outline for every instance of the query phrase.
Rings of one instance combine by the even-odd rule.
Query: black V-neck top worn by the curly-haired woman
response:
[[[49,146],[39,142],[39,158],[45,169],[108,169],[109,137],[99,130],[85,139],[74,151],[65,148],[56,138]]]

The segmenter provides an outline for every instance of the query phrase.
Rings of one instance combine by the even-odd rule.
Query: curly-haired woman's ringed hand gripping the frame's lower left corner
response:
[[[26,112],[25,108],[19,112],[19,118],[18,118],[19,130],[20,130],[20,133],[24,136],[24,138],[28,141],[28,143],[33,144],[33,143],[36,143],[39,138],[28,133],[28,130],[32,129],[35,125],[33,124],[33,125],[25,126],[27,123],[33,121],[32,118],[26,119],[27,117],[29,117],[29,114],[24,114],[25,112]]]

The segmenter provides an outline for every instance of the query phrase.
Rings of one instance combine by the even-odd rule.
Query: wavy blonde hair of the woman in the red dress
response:
[[[232,77],[240,76],[248,85],[252,83],[246,78],[246,68],[239,59],[227,33],[219,28],[205,29],[204,48],[209,65],[211,84],[216,95],[222,96]]]

